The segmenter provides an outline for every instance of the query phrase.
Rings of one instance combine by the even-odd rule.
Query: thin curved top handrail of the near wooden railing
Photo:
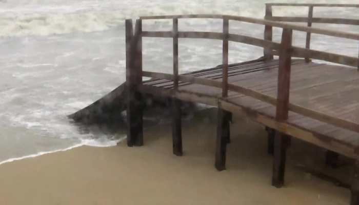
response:
[[[316,34],[330,35],[336,37],[349,38],[359,40],[359,34],[326,30],[320,28],[309,28],[305,26],[298,26],[292,24],[285,24],[280,22],[273,22],[271,20],[264,20],[258,18],[244,17],[244,16],[233,16],[233,15],[216,15],[216,14],[192,14],[192,15],[167,15],[167,16],[143,16],[141,19],[169,19],[169,18],[228,18],[229,20],[238,20],[241,22],[247,22],[252,24],[268,25],[273,27],[280,27],[286,29],[292,29],[297,31],[311,32]]]

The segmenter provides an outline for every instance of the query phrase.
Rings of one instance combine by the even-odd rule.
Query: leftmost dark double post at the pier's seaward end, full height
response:
[[[142,20],[126,19],[127,145],[143,145],[143,100],[137,91],[142,84]]]

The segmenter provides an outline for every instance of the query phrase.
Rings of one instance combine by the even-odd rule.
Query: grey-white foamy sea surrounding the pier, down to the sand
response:
[[[82,131],[66,117],[125,80],[124,19],[144,15],[231,14],[263,18],[264,4],[353,1],[244,0],[0,0],[0,163],[81,145],[114,146],[124,134]],[[276,7],[274,15],[307,16],[304,7]],[[359,19],[359,9],[315,8],[315,17]],[[315,27],[358,33],[355,26]],[[263,26],[230,22],[230,32],[263,37]],[[146,30],[170,30],[149,20]],[[179,30],[221,31],[221,20],[180,20]],[[274,30],[274,40],[281,32]],[[305,33],[294,33],[305,46]],[[357,56],[358,42],[313,35],[312,48]],[[172,71],[171,39],[144,39],[144,70]],[[230,63],[262,56],[262,49],[230,43]],[[179,69],[221,64],[222,42],[180,39]]]

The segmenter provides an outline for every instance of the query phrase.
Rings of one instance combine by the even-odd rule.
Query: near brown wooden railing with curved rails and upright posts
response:
[[[223,19],[223,32],[183,32],[178,31],[178,19],[180,18],[219,18]],[[172,31],[142,31],[142,20],[145,19],[173,19]],[[260,24],[270,27],[279,27],[283,29],[281,43],[275,43],[268,39],[254,38],[244,35],[237,35],[229,33],[230,20],[237,20],[241,22]],[[126,37],[132,34],[131,20],[126,20]],[[359,34],[310,28],[304,26],[283,24],[272,22],[270,20],[230,16],[230,15],[172,15],[172,16],[146,16],[136,20],[135,34],[129,39],[127,37],[127,79],[128,85],[140,86],[142,84],[142,76],[173,80],[174,89],[178,88],[178,81],[186,83],[201,84],[222,89],[222,100],[226,100],[228,90],[241,93],[255,99],[264,101],[265,103],[276,106],[276,119],[279,121],[287,120],[288,112],[292,111],[302,114],[313,119],[317,119],[334,126],[342,127],[354,132],[359,132],[359,125],[330,115],[310,110],[301,106],[289,103],[289,86],[290,86],[290,69],[291,57],[293,55],[310,57],[314,59],[321,59],[332,63],[343,64],[352,67],[358,67],[359,58],[349,57],[345,55],[338,55],[322,51],[311,50],[308,48],[298,48],[292,46],[292,31],[305,31],[310,33],[317,33],[341,38],[348,38],[359,40]],[[142,37],[170,37],[173,38],[173,74],[165,74],[158,72],[149,72],[142,70]],[[218,39],[223,41],[223,80],[217,81],[213,79],[206,79],[190,75],[178,74],[178,38],[207,38]],[[279,70],[278,70],[278,92],[277,97],[265,95],[254,90],[228,84],[228,42],[239,42],[254,46],[263,47],[265,49],[276,50],[279,54]],[[141,79],[140,79],[141,78]],[[129,81],[130,80],[130,81]],[[131,81],[132,80],[132,81]]]

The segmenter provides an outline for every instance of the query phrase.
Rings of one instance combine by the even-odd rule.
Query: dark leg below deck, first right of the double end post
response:
[[[181,100],[172,98],[172,144],[173,154],[177,156],[183,155],[182,149],[182,112]]]

